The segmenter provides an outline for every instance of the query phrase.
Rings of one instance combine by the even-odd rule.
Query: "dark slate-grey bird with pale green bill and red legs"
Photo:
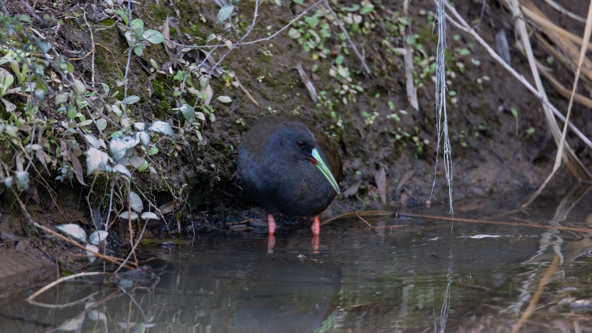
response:
[[[329,206],[343,180],[341,159],[329,138],[295,116],[272,115],[256,121],[239,148],[239,177],[245,190],[268,213],[315,216]]]

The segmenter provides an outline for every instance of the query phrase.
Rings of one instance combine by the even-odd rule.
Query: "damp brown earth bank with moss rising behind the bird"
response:
[[[579,5],[567,0],[561,2],[565,2],[564,5],[574,12],[586,12],[583,2],[578,2]],[[143,7],[134,8],[134,16],[142,18],[146,27],[156,30],[162,28],[167,16],[175,18],[179,32],[171,28],[170,36],[179,43],[199,43],[201,40],[198,37],[221,32],[216,20],[219,7],[215,2],[174,3],[176,7],[168,7],[169,2],[165,1],[144,2]],[[38,15],[61,17],[63,23],[57,29],[44,26],[38,20],[32,20],[31,25],[54,43],[59,52],[70,57],[82,57],[92,50],[89,31],[81,17],[82,11],[86,11],[89,24],[95,29],[94,39],[97,43],[95,82],[106,82],[113,87],[118,70],[125,68],[127,43],[123,33],[115,27],[96,30],[112,23],[104,12],[106,4],[99,1],[39,0],[34,4]],[[500,7],[498,2],[485,2],[484,10],[482,1],[461,0],[455,4],[459,12],[478,27],[479,33],[490,45],[495,45],[494,36],[498,31],[506,33],[511,65],[529,79],[529,66],[513,46],[511,14]],[[354,3],[346,1],[333,5],[334,9],[341,11]],[[581,36],[583,24],[566,20],[551,8],[540,7],[552,20]],[[283,1],[281,7],[272,2],[263,2],[259,8],[258,24],[247,39],[268,36],[268,33],[283,27],[305,8],[292,1]],[[407,34],[419,36],[426,55],[434,55],[436,51],[436,37],[432,34],[432,25],[426,15],[426,12],[435,12],[435,9],[435,5],[429,1],[411,2],[408,8],[407,20],[411,22],[411,32],[407,31]],[[28,14],[28,9],[22,7],[20,1],[8,1],[7,10],[11,15]],[[243,0],[239,3],[235,15],[240,23],[244,23],[240,25],[241,31],[252,20],[252,12],[252,1]],[[339,196],[323,216],[362,209],[394,211],[404,206],[448,202],[441,147],[440,165],[436,167],[438,153],[435,87],[431,80],[433,73],[421,78],[419,73],[422,68],[416,64],[419,110],[413,110],[406,97],[403,56],[394,55],[385,46],[385,40],[392,47],[404,46],[403,37],[388,33],[388,27],[380,25],[388,21],[385,18],[394,20],[401,12],[403,2],[378,1],[374,12],[364,17],[364,20],[375,24],[373,29],[351,34],[353,43],[362,50],[363,59],[372,73],[363,75],[360,60],[353,55],[345,56],[344,64],[350,69],[352,84],[363,88],[362,92],[352,95],[353,98],[347,104],[342,103],[343,95],[333,93],[342,88],[342,84],[330,76],[330,68],[336,63],[333,54],[343,55],[345,52],[343,41],[337,37],[337,27],[331,27],[332,36],[324,41],[324,47],[333,52],[327,59],[313,59],[311,53],[305,52],[297,41],[288,36],[287,31],[269,41],[240,46],[231,52],[222,65],[236,73],[244,89],[259,106],[247,98],[241,89],[224,85],[224,78],[212,79],[214,93],[229,95],[233,101],[230,104],[216,103],[215,121],[204,122],[201,135],[207,144],[180,143],[182,150],[178,157],[166,154],[155,157],[155,161],[162,164],[163,174],[168,177],[170,187],[175,192],[183,184],[188,184],[191,192],[186,195],[184,204],[175,202],[177,209],[184,209],[182,217],[176,220],[175,216],[171,216],[166,228],[155,225],[147,237],[167,236],[168,232],[162,230],[176,230],[178,226],[185,232],[228,230],[228,225],[233,223],[264,217],[265,212],[254,207],[240,188],[240,180],[235,172],[236,152],[240,146],[241,133],[248,129],[249,124],[274,110],[285,113],[297,111],[314,121],[319,129],[333,137],[339,149],[345,171],[345,180],[340,187],[348,189],[346,193],[349,196]],[[551,171],[556,151],[540,102],[494,62],[482,47],[475,45],[470,36],[456,30],[451,24],[448,27],[449,58],[446,63],[448,68],[455,71],[455,76],[448,76],[448,89],[456,92],[455,98],[448,98],[454,199],[533,191]],[[455,35],[458,37],[453,38]],[[469,50],[469,55],[460,55],[456,51],[459,49]],[[214,59],[220,59],[223,52],[225,50],[214,52]],[[542,49],[536,48],[535,52],[539,59],[545,59],[546,54]],[[416,51],[416,55],[420,53]],[[202,52],[192,51],[186,53],[185,59],[195,62],[196,59],[203,59],[203,55]],[[170,58],[162,44],[148,46],[142,57],[133,56],[129,73],[130,94],[141,98],[141,103],[133,108],[133,116],[147,122],[155,117],[163,119],[168,116],[168,108],[179,106],[172,93],[172,85],[178,82],[172,82],[170,78],[151,78],[150,73],[144,70],[150,68],[150,59],[163,64],[163,68],[175,66],[169,62]],[[433,62],[433,59],[429,60]],[[459,69],[459,62],[464,63],[464,71]],[[92,76],[91,57],[72,60],[72,63],[81,78],[89,84]],[[327,91],[332,105],[317,104],[311,100],[295,70],[299,64],[311,77],[317,92]],[[313,67],[318,68],[314,73],[311,72]],[[566,87],[571,87],[571,72],[559,66],[552,66],[552,69]],[[559,110],[566,110],[567,100],[554,93],[552,88],[546,88],[551,103]],[[517,110],[516,117],[511,112],[512,108]],[[398,113],[401,120],[397,122],[389,116],[398,110],[405,110],[406,113]],[[332,115],[332,111],[336,116]],[[44,112],[50,114],[52,110],[48,108]],[[592,124],[587,121],[589,110],[576,103],[573,114],[574,123],[590,137]],[[369,122],[371,116],[375,116],[375,119]],[[339,123],[342,125],[339,126]],[[526,135],[525,131],[530,128],[534,129],[534,133]],[[590,165],[590,149],[569,135],[568,141],[584,164]],[[168,148],[165,146],[163,150]],[[384,179],[379,176],[382,168],[386,171]],[[564,181],[570,177],[562,171],[562,175],[555,179]],[[157,206],[172,200],[158,175],[139,173],[134,175],[134,182],[141,191],[153,198]],[[385,185],[385,191],[381,193],[379,188],[382,185]],[[562,184],[555,186],[561,187]],[[48,226],[80,223],[90,230],[88,207],[84,200],[88,187],[56,185],[54,191],[57,206],[30,203],[31,209],[37,213],[33,214],[34,219]],[[385,203],[382,203],[381,194],[385,195]],[[49,198],[41,200],[49,201]],[[5,280],[9,276],[21,276],[24,271],[37,272],[38,267],[49,267],[56,261],[70,262],[65,258],[71,252],[79,253],[77,249],[38,236],[33,230],[25,232],[26,228],[22,226],[24,222],[15,216],[18,216],[18,211],[8,206],[0,217],[0,260],[15,262],[14,265],[2,265],[1,281],[9,281]],[[257,222],[253,224],[256,226]],[[112,232],[111,236],[115,239],[117,235],[123,234],[124,231]],[[28,241],[28,244],[21,244],[24,241]]]

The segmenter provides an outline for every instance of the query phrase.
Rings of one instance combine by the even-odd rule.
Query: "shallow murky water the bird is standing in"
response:
[[[63,308],[25,302],[37,287],[15,292],[0,307],[0,328],[506,332],[547,274],[523,331],[590,331],[592,229],[558,227],[589,228],[590,199],[578,190],[519,213],[510,210],[522,198],[457,203],[453,224],[366,216],[368,229],[358,217],[338,219],[321,228],[318,251],[308,228],[279,228],[273,253],[263,230],[196,235],[174,248],[141,248],[141,257],[153,258],[147,281],[63,283],[37,298]],[[449,216],[445,207],[419,213]],[[519,225],[525,222],[556,228]],[[555,257],[558,266],[549,271]]]

